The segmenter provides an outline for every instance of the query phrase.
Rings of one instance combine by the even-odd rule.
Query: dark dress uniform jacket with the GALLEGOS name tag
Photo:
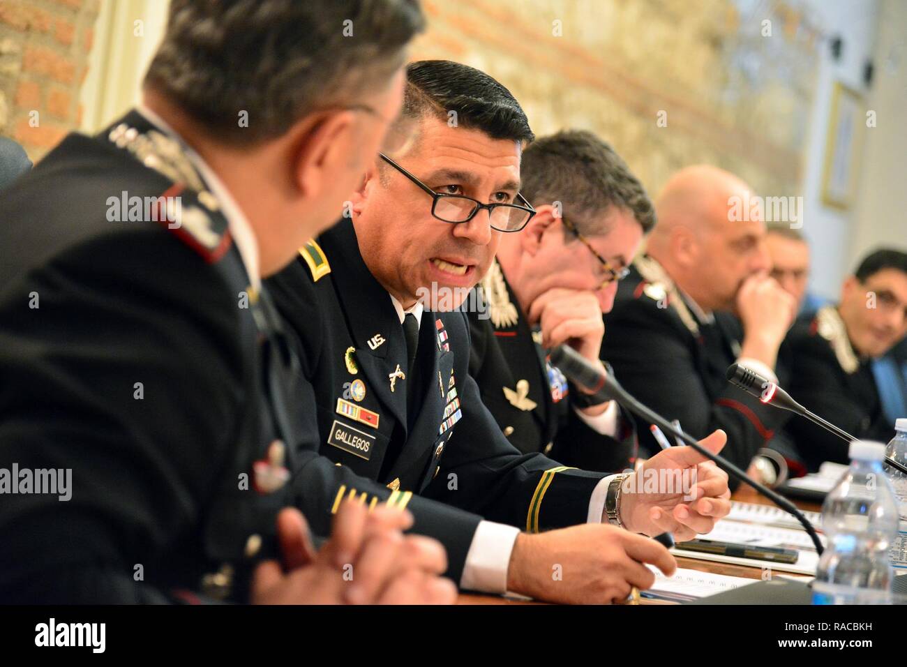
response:
[[[482,517],[529,530],[585,523],[602,475],[564,470],[507,442],[469,375],[463,312],[424,311],[416,377],[399,378],[404,330],[351,221],[308,244],[267,284],[300,338],[303,385],[315,392],[314,406],[305,392],[296,401],[317,410],[320,434],[300,471],[310,521],[327,521],[343,495],[369,505],[389,498],[414,514],[415,532],[444,543],[455,581]]]

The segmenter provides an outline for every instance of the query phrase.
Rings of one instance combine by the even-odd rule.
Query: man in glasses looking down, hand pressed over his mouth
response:
[[[654,226],[654,208],[619,155],[585,130],[532,142],[520,173],[536,213],[502,236],[482,280],[486,308],[469,312],[470,374],[520,451],[623,470],[636,456],[632,419],[568,383],[545,349],[566,343],[601,363],[601,314]]]

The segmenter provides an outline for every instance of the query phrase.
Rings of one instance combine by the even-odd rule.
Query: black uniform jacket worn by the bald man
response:
[[[692,436],[724,429],[727,445],[721,454],[736,466],[746,470],[787,420],[789,413],[727,382],[727,367],[738,357],[742,338],[736,318],[717,312],[713,324],[697,319],[651,258],[633,263],[604,321],[601,354],[620,384],[663,417],[679,419]],[[657,452],[649,426],[638,421],[639,443]]]

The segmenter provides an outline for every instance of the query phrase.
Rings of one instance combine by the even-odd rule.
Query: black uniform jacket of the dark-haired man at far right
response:
[[[894,436],[894,425],[883,413],[872,360],[853,351],[834,306],[798,320],[787,344],[793,371],[789,391],[797,402],[860,439],[888,442]],[[795,417],[786,428],[811,471],[823,461],[849,462],[848,443],[808,419]]]

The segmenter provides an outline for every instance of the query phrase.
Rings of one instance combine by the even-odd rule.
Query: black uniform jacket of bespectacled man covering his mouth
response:
[[[533,338],[497,262],[473,289],[471,302],[483,308],[468,313],[473,343],[469,373],[511,444],[525,454],[543,452],[587,470],[632,467],[637,441],[629,414],[620,413],[617,438],[601,435],[577,416],[571,401],[576,389]]]

